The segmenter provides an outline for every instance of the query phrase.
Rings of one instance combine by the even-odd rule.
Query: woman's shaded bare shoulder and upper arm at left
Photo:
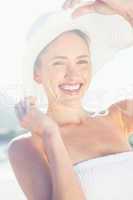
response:
[[[9,143],[8,157],[27,199],[51,199],[50,170],[47,162],[32,144],[30,134],[16,137]]]

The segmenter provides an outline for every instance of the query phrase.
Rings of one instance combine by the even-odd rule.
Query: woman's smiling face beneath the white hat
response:
[[[39,77],[50,103],[79,103],[91,81],[89,48],[73,32],[63,33],[39,58]],[[38,79],[37,79],[38,80]]]

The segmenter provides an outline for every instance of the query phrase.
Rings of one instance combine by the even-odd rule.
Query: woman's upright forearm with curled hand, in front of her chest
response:
[[[53,188],[52,200],[85,200],[85,196],[80,186],[80,182],[77,178],[76,173],[74,172],[71,159],[61,138],[58,124],[49,116],[39,111],[35,106],[35,102],[33,101],[33,99],[28,98],[24,101],[26,101],[26,103],[21,101],[19,104],[16,105],[16,112],[19,117],[21,126],[33,133],[32,138],[34,138],[37,134],[42,141],[42,150],[44,150],[45,152],[50,169],[50,177]],[[32,103],[32,105],[30,102]],[[23,105],[25,105],[25,109],[23,109]],[[26,112],[24,112],[24,110],[26,110]],[[24,154],[26,154],[26,151]],[[34,155],[34,152],[31,152],[31,155],[32,154]],[[16,157],[17,156],[14,155],[14,159]],[[11,160],[13,160],[13,157]],[[14,162],[14,166],[16,166],[16,168],[14,169],[16,169],[17,171],[19,170],[20,166],[21,169],[19,170],[18,177],[21,181],[23,181],[23,178],[25,179],[25,181],[29,180],[31,184],[30,188],[32,189],[32,180],[35,180],[35,178],[37,179],[37,181],[43,180],[41,174],[43,174],[43,169],[45,170],[45,168],[42,164],[43,161],[41,163],[39,162],[39,160],[35,160],[34,156],[32,157],[32,162],[30,160],[30,157],[26,157],[25,160],[27,163],[25,170],[23,170],[23,167],[25,167],[23,162],[21,162],[21,164],[19,164],[18,162],[18,166],[16,166]],[[36,167],[33,164],[34,160],[36,163]],[[37,165],[38,168],[41,167],[41,171],[38,170]],[[30,167],[32,170],[32,166],[34,169],[33,174],[30,172]],[[23,172],[23,177],[21,177],[20,174],[21,170]],[[25,171],[27,173],[25,173]],[[30,176],[30,178],[28,177],[29,179],[27,179],[28,173]],[[36,174],[35,176],[34,173]],[[39,188],[36,181],[34,182],[34,187],[35,190],[37,190],[38,194],[39,191],[40,194],[43,194],[43,187],[45,187],[45,184],[43,185],[43,182],[41,184],[41,189]],[[30,192],[32,193],[32,190]],[[38,199],[36,198],[36,200]]]

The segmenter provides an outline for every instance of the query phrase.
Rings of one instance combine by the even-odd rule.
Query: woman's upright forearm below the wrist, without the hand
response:
[[[85,200],[85,194],[60,135],[48,139],[45,137],[45,146],[53,185],[52,200]]]

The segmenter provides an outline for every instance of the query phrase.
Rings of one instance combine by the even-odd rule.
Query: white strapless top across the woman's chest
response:
[[[133,151],[73,165],[86,200],[133,199]]]

